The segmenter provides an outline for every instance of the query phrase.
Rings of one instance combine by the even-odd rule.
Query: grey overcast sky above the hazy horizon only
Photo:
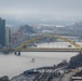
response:
[[[0,0],[0,16],[81,18],[82,0]]]

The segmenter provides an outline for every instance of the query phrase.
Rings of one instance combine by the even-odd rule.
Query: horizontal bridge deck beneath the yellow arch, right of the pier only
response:
[[[82,52],[80,49],[50,49],[50,48],[28,48],[20,49],[20,52]]]

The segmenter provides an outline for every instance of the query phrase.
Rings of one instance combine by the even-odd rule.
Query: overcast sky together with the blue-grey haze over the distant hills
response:
[[[82,0],[0,0],[6,25],[69,24],[82,19]]]

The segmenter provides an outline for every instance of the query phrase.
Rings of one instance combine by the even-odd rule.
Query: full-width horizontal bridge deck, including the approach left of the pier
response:
[[[27,49],[1,49],[3,52],[82,52],[82,49],[54,49],[54,48],[27,48]]]

